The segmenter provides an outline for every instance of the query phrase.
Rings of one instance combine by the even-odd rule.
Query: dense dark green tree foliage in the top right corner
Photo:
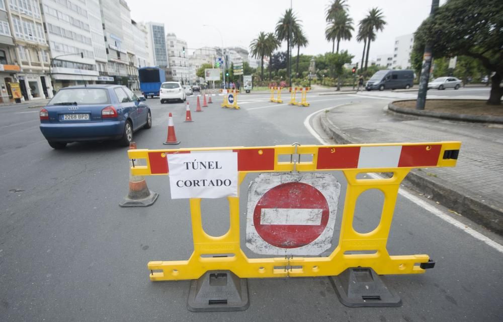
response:
[[[415,32],[414,49],[431,41],[435,57],[463,55],[492,72],[487,104],[501,105],[503,88],[503,1],[448,0]]]

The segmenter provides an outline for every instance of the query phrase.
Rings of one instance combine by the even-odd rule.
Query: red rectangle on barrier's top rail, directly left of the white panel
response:
[[[316,169],[358,168],[360,146],[319,147]]]

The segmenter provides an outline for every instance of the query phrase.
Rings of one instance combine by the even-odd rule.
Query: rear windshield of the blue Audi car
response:
[[[65,103],[109,104],[110,98],[106,89],[62,89],[54,95],[48,105]]]

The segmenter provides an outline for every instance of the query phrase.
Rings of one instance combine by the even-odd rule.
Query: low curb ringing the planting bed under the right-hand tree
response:
[[[435,99],[435,100],[437,100],[437,99]],[[441,101],[441,100],[442,99],[438,99],[438,101]],[[444,100],[449,100],[449,99],[444,99]],[[388,104],[388,109],[393,112],[396,112],[396,113],[410,114],[410,115],[417,115],[417,116],[429,116],[429,117],[436,117],[436,118],[446,119],[446,120],[503,124],[503,117],[501,117],[501,116],[469,115],[469,114],[456,114],[456,113],[450,113],[450,112],[414,110],[414,109],[396,106],[393,104],[393,103],[397,103],[397,102],[409,102],[409,101],[415,101],[415,100],[394,101],[394,102],[391,102]],[[476,100],[470,100],[470,101],[476,101]],[[480,101],[485,101],[485,100],[480,100]]]

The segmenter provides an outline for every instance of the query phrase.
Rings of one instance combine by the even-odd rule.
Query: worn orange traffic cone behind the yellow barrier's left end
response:
[[[129,149],[136,150],[136,143],[131,142],[129,144]],[[139,166],[139,160],[130,159],[129,169]],[[133,176],[131,170],[129,171],[129,192],[124,200],[119,203],[121,207],[148,207],[153,205],[158,193],[152,192],[147,187],[147,182],[143,176]]]

